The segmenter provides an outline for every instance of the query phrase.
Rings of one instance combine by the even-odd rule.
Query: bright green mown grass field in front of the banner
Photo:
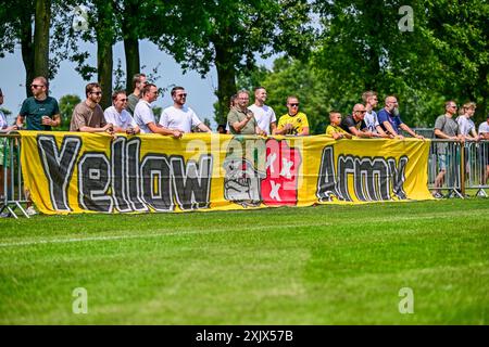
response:
[[[0,283],[1,324],[488,324],[489,200],[0,219]]]

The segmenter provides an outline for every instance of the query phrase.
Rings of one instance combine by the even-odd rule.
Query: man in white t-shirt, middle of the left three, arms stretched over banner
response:
[[[142,133],[160,133],[163,136],[171,136],[175,139],[181,138],[184,134],[180,130],[172,130],[161,125],[156,125],[151,103],[158,99],[158,88],[153,83],[147,83],[142,88],[142,98],[134,108],[134,120],[141,129]]]

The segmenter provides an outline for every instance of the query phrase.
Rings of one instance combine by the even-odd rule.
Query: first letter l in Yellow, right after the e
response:
[[[115,208],[121,213],[131,210],[129,202],[126,198],[127,178],[126,175],[126,138],[118,137],[112,142],[112,195],[115,202]]]

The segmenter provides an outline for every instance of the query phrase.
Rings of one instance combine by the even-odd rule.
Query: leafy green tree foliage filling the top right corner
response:
[[[489,3],[439,0],[426,3],[423,36],[434,47],[449,99],[477,102],[476,117],[485,120],[489,99]]]

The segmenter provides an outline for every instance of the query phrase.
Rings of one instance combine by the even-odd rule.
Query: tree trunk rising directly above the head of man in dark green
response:
[[[34,24],[34,75],[49,79],[49,26],[51,0],[36,0]]]

